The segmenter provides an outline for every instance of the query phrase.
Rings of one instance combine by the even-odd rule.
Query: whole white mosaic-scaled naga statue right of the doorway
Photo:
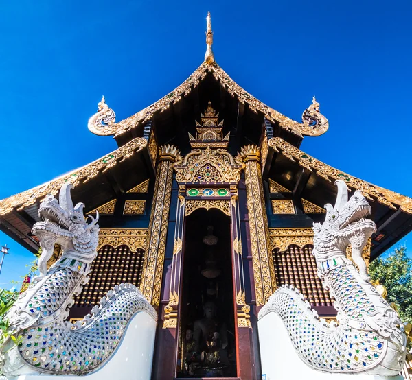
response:
[[[323,287],[335,299],[338,324],[319,320],[304,296],[290,285],[277,289],[259,319],[276,313],[295,351],[310,368],[395,376],[402,370],[407,340],[398,313],[369,282],[362,258],[362,249],[376,230],[374,222],[365,219],[371,207],[361,191],[348,200],[345,182],[335,183],[336,204],[326,204],[325,222],[313,227],[313,254]],[[346,256],[349,244],[359,271]]]

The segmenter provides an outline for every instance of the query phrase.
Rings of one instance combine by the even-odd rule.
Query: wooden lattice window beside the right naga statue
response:
[[[312,244],[303,248],[293,244],[283,252],[279,248],[273,250],[277,286],[290,284],[297,287],[313,306],[332,306],[329,293],[317,276],[312,249]]]

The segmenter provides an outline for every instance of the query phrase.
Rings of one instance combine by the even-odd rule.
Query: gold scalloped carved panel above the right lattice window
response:
[[[312,228],[270,228],[272,250],[279,248],[284,252],[290,244],[304,247],[306,244],[313,244]]]

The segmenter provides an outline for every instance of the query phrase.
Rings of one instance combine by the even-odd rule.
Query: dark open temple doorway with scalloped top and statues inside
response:
[[[186,217],[178,377],[236,377],[230,222],[218,209]]]

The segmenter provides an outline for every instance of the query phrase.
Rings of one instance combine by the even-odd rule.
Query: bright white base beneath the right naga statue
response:
[[[402,376],[385,377],[360,374],[332,374],[314,370],[301,361],[284,322],[276,313],[268,313],[258,322],[260,359],[266,380],[402,380]]]

